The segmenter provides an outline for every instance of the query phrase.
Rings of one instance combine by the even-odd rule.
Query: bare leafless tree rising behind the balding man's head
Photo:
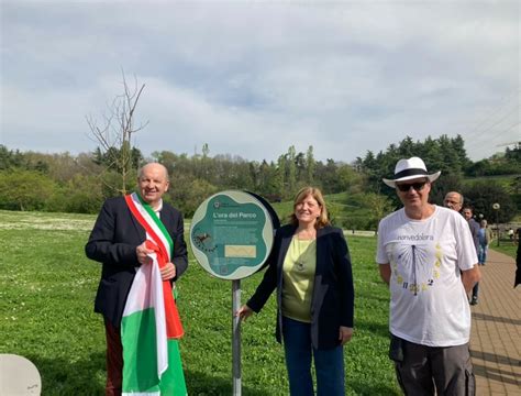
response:
[[[126,194],[129,177],[133,170],[132,162],[132,138],[134,133],[143,130],[148,121],[138,127],[134,125],[135,110],[145,85],[138,85],[134,76],[134,85],[130,87],[123,76],[123,94],[118,95],[112,103],[107,105],[107,112],[102,114],[101,121],[87,116],[90,129],[90,138],[98,142],[98,153],[104,158],[107,170],[115,169],[121,175],[121,185],[108,185],[108,187]],[[135,168],[137,165],[134,166]]]

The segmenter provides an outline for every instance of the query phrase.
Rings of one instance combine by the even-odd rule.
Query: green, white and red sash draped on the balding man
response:
[[[187,395],[178,339],[182,326],[170,282],[159,268],[170,262],[174,243],[154,210],[137,194],[125,196],[134,218],[146,230],[152,264],[141,265],[121,321],[123,395]]]

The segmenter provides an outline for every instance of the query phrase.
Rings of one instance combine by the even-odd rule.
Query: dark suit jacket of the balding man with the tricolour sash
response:
[[[171,262],[178,278],[188,267],[182,216],[163,202],[159,217],[174,241]],[[117,328],[121,323],[135,267],[140,266],[135,249],[145,238],[145,229],[132,216],[124,198],[110,198],[103,204],[85,246],[87,257],[102,263],[95,311],[102,314]]]

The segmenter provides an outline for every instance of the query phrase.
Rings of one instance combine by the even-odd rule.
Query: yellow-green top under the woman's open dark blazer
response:
[[[282,266],[282,315],[311,322],[311,297],[317,270],[317,240],[296,237],[286,253]]]

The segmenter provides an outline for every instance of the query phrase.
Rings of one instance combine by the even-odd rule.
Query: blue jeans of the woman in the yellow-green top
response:
[[[344,350],[339,345],[329,350],[317,350],[311,345],[311,324],[282,317],[284,350],[292,396],[312,396],[311,358],[317,372],[317,395],[343,396]]]

